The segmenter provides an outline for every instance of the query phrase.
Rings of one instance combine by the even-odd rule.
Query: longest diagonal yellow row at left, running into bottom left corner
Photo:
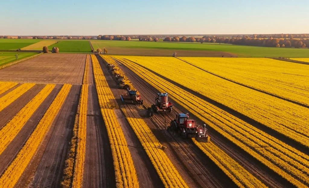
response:
[[[6,171],[0,177],[0,187],[14,187],[19,177],[23,174],[25,168],[35,155],[37,148],[43,141],[48,132],[54,118],[57,116],[62,104],[64,103],[67,94],[72,85],[65,84],[49,106],[44,116],[32,132],[25,145],[19,151],[13,162],[9,165]]]

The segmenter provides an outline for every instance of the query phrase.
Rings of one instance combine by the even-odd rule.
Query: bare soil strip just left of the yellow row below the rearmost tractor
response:
[[[120,90],[118,89],[116,82],[112,79],[111,74],[108,72],[106,64],[103,63],[102,58],[98,58],[104,76],[108,82],[109,87],[112,90],[117,102],[119,102]],[[125,135],[129,151],[131,153],[133,163],[138,176],[138,182],[140,187],[163,187],[162,181],[160,180],[154,166],[152,165],[149,157],[146,154],[142,144],[139,142],[133,129],[129,125],[122,111],[115,110],[115,114],[119,124],[121,125],[122,131]]]

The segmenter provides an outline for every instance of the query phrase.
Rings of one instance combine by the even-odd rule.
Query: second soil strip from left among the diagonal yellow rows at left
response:
[[[11,120],[17,112],[19,112],[40,90],[44,88],[45,85],[34,85],[30,90],[26,91],[18,99],[16,99],[9,106],[0,111],[0,129],[6,125],[6,123]]]

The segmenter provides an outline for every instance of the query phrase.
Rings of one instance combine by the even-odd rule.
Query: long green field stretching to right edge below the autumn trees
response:
[[[94,49],[160,49],[160,50],[189,50],[189,51],[222,51],[238,57],[309,57],[309,49],[274,48],[258,46],[238,46],[218,43],[185,43],[185,42],[142,42],[142,41],[108,41],[91,40]]]

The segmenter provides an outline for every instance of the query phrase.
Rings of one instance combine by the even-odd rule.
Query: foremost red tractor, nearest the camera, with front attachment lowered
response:
[[[208,142],[206,124],[197,125],[195,120],[189,120],[189,114],[176,113],[176,119],[171,121],[167,130],[178,132],[182,138],[196,138],[199,142]]]

